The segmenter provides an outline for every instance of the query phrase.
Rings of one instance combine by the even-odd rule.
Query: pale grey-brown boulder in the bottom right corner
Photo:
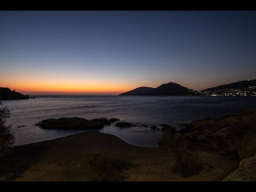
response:
[[[256,155],[243,159],[239,168],[223,181],[256,181]]]

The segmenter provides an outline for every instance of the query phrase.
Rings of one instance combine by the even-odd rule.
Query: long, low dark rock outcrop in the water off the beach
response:
[[[46,119],[36,124],[42,129],[101,129],[104,123],[99,119],[86,120],[78,117],[62,117]]]

